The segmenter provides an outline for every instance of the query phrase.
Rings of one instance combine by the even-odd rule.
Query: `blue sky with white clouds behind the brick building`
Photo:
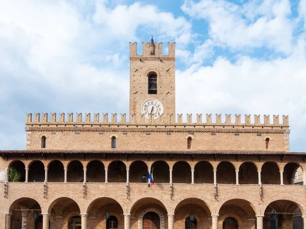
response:
[[[306,151],[305,32],[306,0],[2,0],[0,149],[25,148],[25,113],[128,113],[129,42],[153,35],[177,113],[289,115]]]

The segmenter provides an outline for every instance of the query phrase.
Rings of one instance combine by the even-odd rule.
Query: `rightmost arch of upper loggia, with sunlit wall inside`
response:
[[[288,163],[284,167],[284,185],[303,184],[303,171],[297,163]]]

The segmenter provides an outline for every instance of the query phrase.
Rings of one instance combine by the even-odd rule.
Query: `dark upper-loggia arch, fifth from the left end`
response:
[[[87,182],[105,182],[105,167],[101,161],[91,161],[87,165]]]

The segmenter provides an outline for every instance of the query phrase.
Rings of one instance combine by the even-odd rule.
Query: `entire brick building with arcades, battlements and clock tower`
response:
[[[306,228],[288,117],[175,116],[175,43],[136,47],[129,120],[27,115],[26,150],[0,151],[0,228]]]

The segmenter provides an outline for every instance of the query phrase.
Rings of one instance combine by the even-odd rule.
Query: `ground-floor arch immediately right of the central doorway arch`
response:
[[[195,220],[190,220],[191,213]],[[175,207],[174,228],[211,228],[211,214],[208,205],[201,199],[184,199]]]

